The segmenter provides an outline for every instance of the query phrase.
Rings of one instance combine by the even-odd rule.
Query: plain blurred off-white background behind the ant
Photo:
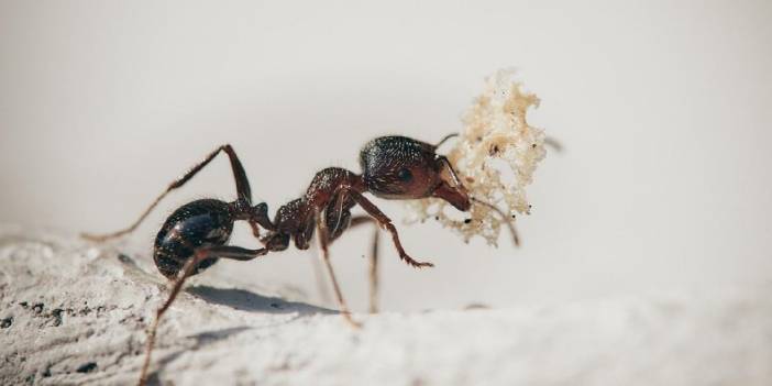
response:
[[[0,221],[128,225],[221,143],[272,211],[370,139],[460,130],[485,76],[517,67],[551,152],[518,219],[523,245],[405,225],[382,239],[387,310],[566,302],[770,283],[772,3],[768,1],[0,1]],[[232,199],[227,158],[124,247],[150,256],[195,198]],[[365,310],[370,229],[332,249]],[[234,244],[256,242],[240,227]],[[150,258],[150,257],[147,257]],[[318,299],[312,252],[214,269]]]

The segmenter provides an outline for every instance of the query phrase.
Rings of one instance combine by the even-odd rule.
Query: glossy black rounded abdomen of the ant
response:
[[[175,278],[197,250],[224,245],[233,231],[233,221],[229,205],[216,199],[196,200],[175,210],[155,238],[153,260],[158,271],[170,279]],[[217,257],[202,261],[191,275],[217,261]]]

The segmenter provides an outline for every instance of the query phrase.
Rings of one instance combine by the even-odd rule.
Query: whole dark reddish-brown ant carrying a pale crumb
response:
[[[428,262],[419,262],[405,252],[391,220],[364,196],[365,192],[397,200],[437,197],[460,211],[467,211],[474,201],[496,209],[504,218],[504,213],[496,207],[471,198],[448,158],[437,154],[437,148],[455,135],[457,134],[448,135],[435,145],[406,136],[382,136],[372,140],[360,152],[362,175],[339,167],[328,167],[318,172],[306,194],[279,207],[273,221],[268,218],[267,203],[253,205],[244,167],[233,147],[225,144],[169,184],[129,228],[104,235],[84,234],[84,238],[91,241],[104,241],[134,231],[167,194],[185,185],[218,154],[228,155],[235,179],[236,200],[225,202],[217,199],[199,199],[186,203],[166,219],[155,239],[153,253],[155,265],[165,277],[173,280],[173,286],[167,300],[156,310],[155,320],[148,329],[140,385],[144,385],[147,379],[151,353],[164,312],[177,298],[188,277],[210,267],[219,258],[251,261],[269,252],[286,250],[290,240],[295,242],[297,249],[307,250],[316,231],[321,260],[332,282],[340,313],[351,326],[357,328],[361,324],[351,318],[330,264],[328,251],[330,243],[340,238],[346,229],[364,223],[375,223],[390,233],[399,258],[405,263],[416,268],[433,266]],[[362,207],[367,216],[352,217],[351,209],[356,205]],[[263,247],[250,250],[228,245],[235,221],[246,221]],[[508,224],[517,240],[514,228],[509,222]],[[265,234],[262,234],[261,229]],[[377,228],[371,265],[371,301],[375,298],[376,252]]]

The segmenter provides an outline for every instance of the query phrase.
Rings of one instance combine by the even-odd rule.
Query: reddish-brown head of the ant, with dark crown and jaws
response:
[[[466,211],[470,197],[437,145],[406,136],[382,136],[360,153],[364,184],[373,195],[387,199],[438,197]]]

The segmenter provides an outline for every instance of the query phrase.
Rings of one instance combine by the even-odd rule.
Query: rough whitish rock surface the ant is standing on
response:
[[[770,385],[770,286],[356,315],[196,277],[159,331],[175,385]],[[133,384],[166,283],[141,255],[0,228],[0,384]]]

